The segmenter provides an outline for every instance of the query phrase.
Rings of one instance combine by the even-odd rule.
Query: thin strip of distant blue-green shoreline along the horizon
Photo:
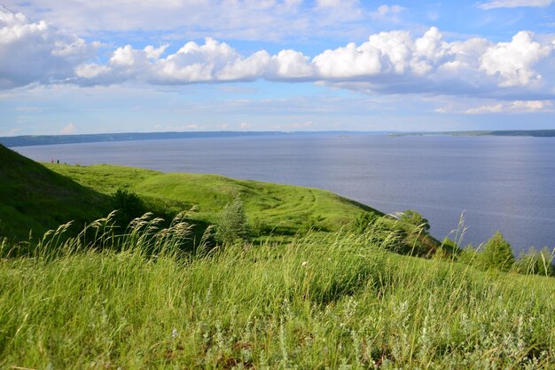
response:
[[[493,130],[493,131],[189,131],[189,132],[121,132],[110,134],[81,135],[25,135],[0,138],[0,144],[16,146],[49,146],[59,144],[83,144],[140,140],[168,140],[178,138],[245,138],[290,135],[387,135],[405,136],[458,136],[458,137],[534,137],[555,138],[555,130]]]

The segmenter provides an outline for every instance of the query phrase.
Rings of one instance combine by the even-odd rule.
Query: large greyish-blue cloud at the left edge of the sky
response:
[[[94,56],[98,47],[0,5],[0,89],[71,78],[74,67]]]

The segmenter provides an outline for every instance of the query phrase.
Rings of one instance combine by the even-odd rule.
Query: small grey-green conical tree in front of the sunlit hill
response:
[[[248,239],[245,207],[243,201],[238,197],[223,208],[216,227],[215,238],[222,243],[235,243]]]

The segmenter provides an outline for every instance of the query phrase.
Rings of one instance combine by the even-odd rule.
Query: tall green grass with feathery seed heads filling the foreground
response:
[[[372,230],[184,254],[189,225],[156,225],[4,254],[0,366],[555,367],[554,279],[398,256]]]

